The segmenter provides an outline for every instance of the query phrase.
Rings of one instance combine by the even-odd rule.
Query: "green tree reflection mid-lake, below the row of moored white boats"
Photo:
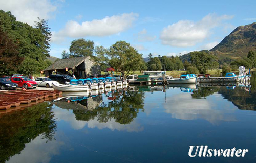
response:
[[[105,104],[101,103],[92,111],[73,110],[77,120],[89,121],[98,117],[98,121],[106,123],[115,119],[120,124],[129,124],[137,117],[139,109],[144,110],[144,93],[123,91],[122,95]]]

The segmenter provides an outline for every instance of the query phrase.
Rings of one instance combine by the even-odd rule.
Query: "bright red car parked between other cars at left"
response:
[[[13,77],[12,82],[18,84],[18,87],[36,88],[38,85],[35,81],[26,77]]]

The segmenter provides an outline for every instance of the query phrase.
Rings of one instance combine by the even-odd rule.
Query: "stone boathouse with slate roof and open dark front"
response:
[[[100,74],[100,66],[96,64],[90,56],[73,57],[68,59],[59,59],[44,70],[46,76],[56,72],[56,74],[68,74],[68,71],[74,71],[77,79],[86,78],[86,75]]]

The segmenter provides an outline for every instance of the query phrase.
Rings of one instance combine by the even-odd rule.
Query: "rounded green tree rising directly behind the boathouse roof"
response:
[[[85,40],[83,38],[73,40],[71,42],[70,56],[73,57],[87,57],[93,56],[94,42],[90,40]]]

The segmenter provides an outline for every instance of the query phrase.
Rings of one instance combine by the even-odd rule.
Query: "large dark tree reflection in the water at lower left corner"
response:
[[[42,134],[48,141],[54,139],[56,122],[51,106],[44,102],[23,111],[0,118],[0,162],[20,153],[25,144]]]

